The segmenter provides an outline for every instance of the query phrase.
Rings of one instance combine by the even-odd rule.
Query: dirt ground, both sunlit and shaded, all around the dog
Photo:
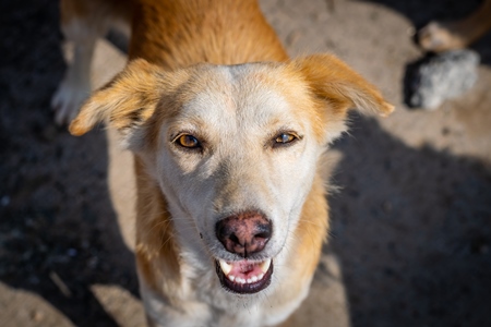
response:
[[[331,149],[331,239],[292,326],[491,326],[491,35],[470,92],[404,104],[415,28],[478,3],[261,1],[291,56],[334,52],[397,107],[354,114]],[[143,326],[132,158],[110,131],[53,124],[61,41],[57,1],[0,2],[0,326]],[[94,84],[124,60],[100,41]]]

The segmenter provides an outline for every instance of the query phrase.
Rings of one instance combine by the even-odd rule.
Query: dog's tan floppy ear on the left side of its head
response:
[[[129,141],[152,117],[160,98],[177,88],[182,73],[165,71],[144,59],[131,61],[85,101],[70,124],[70,133],[80,136],[97,123],[107,121],[124,141]]]

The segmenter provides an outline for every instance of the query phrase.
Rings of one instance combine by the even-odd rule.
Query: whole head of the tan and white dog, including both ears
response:
[[[393,110],[330,55],[178,71],[134,60],[70,131],[108,119],[158,183],[180,246],[215,265],[228,290],[254,293],[270,284],[350,108]]]

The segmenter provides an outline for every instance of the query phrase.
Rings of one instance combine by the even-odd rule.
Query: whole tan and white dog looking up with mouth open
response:
[[[149,326],[275,326],[307,296],[328,231],[320,164],[381,93],[333,55],[289,59],[255,1],[62,0],[75,57],[53,97],[83,135],[134,153],[135,257]],[[95,39],[129,62],[77,109]]]

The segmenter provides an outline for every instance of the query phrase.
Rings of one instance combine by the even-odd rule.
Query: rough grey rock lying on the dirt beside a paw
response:
[[[409,65],[407,105],[434,110],[445,99],[460,96],[476,84],[479,61],[475,51],[452,50]]]

